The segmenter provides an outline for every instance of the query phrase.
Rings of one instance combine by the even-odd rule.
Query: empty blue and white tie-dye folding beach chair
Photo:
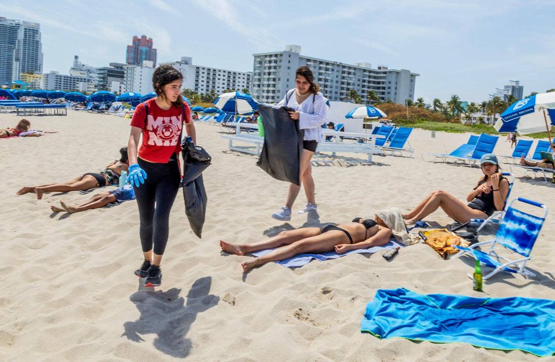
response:
[[[513,208],[513,203],[516,200],[541,208],[543,215],[539,217]],[[476,243],[468,248],[457,246],[456,248],[461,250],[461,252],[457,254],[457,257],[471,253],[472,256],[480,260],[483,265],[493,268],[491,273],[483,275],[483,280],[489,279],[492,275],[497,274],[501,270],[521,274],[524,278],[536,276],[532,271],[526,269],[525,266],[526,262],[530,260],[530,253],[539,236],[539,232],[542,230],[546,216],[546,205],[524,198],[512,199],[503,216],[503,220],[501,220],[495,239]],[[476,250],[476,247],[485,247],[487,244],[491,244],[490,250],[488,250],[487,253]],[[518,255],[518,259],[511,260],[498,255],[494,250],[496,244],[501,244],[504,248],[514,252],[513,254]],[[470,276],[470,274],[468,275]]]

